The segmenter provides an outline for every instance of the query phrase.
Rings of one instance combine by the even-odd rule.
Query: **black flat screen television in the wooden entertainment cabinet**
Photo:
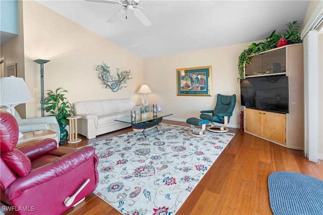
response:
[[[240,80],[241,105],[289,113],[288,76],[260,76]]]

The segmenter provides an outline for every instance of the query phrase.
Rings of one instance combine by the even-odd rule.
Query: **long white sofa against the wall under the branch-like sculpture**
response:
[[[130,127],[129,123],[117,122],[130,116],[135,107],[131,98],[79,101],[74,103],[74,113],[80,116],[77,119],[77,132],[87,139],[100,134]]]

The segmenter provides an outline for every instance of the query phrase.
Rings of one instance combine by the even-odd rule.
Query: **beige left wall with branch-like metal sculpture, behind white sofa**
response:
[[[82,100],[131,97],[140,102],[137,90],[143,82],[143,60],[116,44],[88,31],[35,1],[23,1],[25,76],[34,101],[26,104],[27,118],[40,117],[40,65],[44,64],[44,88],[68,90],[71,103]],[[116,68],[131,70],[127,88],[105,89],[95,68],[104,61],[116,75]],[[37,93],[33,93],[37,88]],[[45,91],[46,93],[46,91]],[[46,94],[45,94],[46,96]]]

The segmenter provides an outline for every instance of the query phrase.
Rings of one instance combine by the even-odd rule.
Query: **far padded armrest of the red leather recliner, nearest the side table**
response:
[[[31,161],[47,154],[48,151],[57,148],[57,142],[54,139],[43,139],[28,145],[17,148],[24,153]]]

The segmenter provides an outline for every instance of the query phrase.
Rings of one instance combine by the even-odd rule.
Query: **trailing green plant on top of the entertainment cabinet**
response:
[[[239,77],[237,78],[238,82],[240,79],[244,78],[244,68],[246,64],[252,64],[250,57],[257,55],[258,53],[266,50],[270,50],[277,47],[277,43],[281,38],[285,38],[287,40],[287,44],[296,44],[302,43],[300,33],[299,33],[299,25],[297,21],[288,22],[286,24],[287,28],[285,33],[276,34],[276,30],[274,30],[270,36],[266,38],[264,42],[255,43],[253,42],[248,46],[247,49],[243,50],[238,60],[238,71]]]

